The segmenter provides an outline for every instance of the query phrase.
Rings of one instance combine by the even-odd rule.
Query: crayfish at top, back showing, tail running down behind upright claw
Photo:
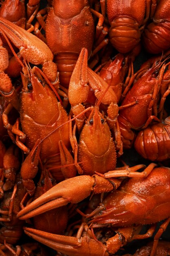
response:
[[[53,33],[51,33],[53,30]],[[71,74],[82,48],[88,57],[95,26],[87,0],[55,0],[46,19],[47,45],[55,56],[61,85],[68,88]]]

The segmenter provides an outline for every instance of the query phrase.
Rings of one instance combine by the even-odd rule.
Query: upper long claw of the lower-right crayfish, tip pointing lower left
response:
[[[89,175],[76,176],[53,186],[22,209],[17,214],[17,218],[21,220],[31,218],[68,203],[77,204],[88,197],[91,192],[102,193],[111,190],[113,190],[113,185],[103,177],[98,175],[93,177]]]

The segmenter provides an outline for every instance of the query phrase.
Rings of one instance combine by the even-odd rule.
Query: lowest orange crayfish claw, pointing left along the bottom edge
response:
[[[39,231],[37,229],[24,228],[24,232],[40,243],[51,247],[68,256],[108,256],[106,247],[97,240],[87,237],[62,236]]]

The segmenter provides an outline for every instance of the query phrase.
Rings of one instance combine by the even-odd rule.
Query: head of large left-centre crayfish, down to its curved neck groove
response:
[[[23,83],[21,112],[23,115],[31,117],[38,124],[54,124],[59,116],[58,102],[54,92],[42,76],[34,74],[33,70],[29,70],[28,75],[22,74],[21,76]]]

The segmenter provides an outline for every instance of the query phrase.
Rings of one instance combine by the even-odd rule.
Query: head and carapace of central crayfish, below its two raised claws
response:
[[[90,115],[79,138],[78,161],[84,174],[106,173],[116,166],[116,150],[110,129],[98,107]]]

